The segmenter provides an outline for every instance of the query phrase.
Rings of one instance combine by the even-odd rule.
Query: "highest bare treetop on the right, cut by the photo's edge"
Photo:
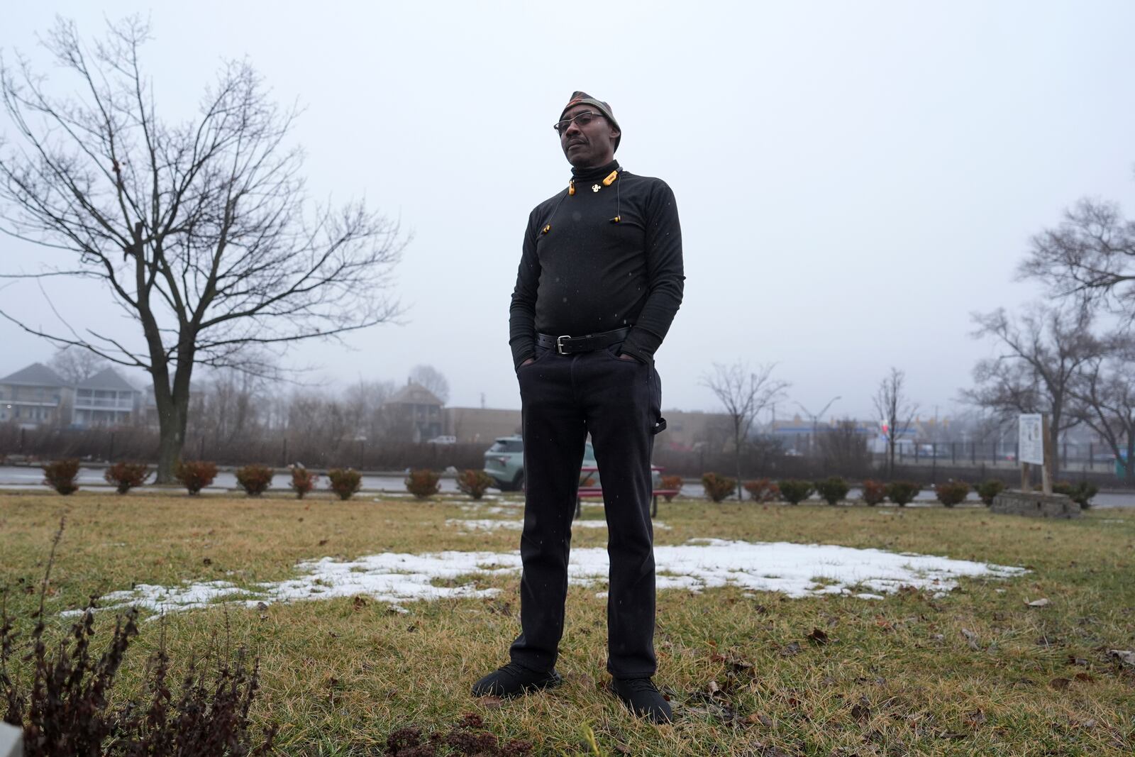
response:
[[[1116,203],[1081,200],[1059,226],[1033,237],[1018,274],[1058,297],[1102,302],[1135,319],[1135,221]]]

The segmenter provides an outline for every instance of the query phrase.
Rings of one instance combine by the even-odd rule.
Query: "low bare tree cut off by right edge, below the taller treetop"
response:
[[[1090,358],[1073,384],[1077,412],[1111,449],[1125,459],[1124,478],[1135,485],[1135,339],[1117,335]]]

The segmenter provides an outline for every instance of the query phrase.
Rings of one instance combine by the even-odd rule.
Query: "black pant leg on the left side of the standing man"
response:
[[[512,662],[555,666],[568,598],[568,555],[587,427],[577,405],[573,360],[552,351],[518,369],[524,437],[524,530],[520,539],[521,633]]]

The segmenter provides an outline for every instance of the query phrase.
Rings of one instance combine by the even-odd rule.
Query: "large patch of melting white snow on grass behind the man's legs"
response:
[[[603,524],[603,521],[594,522]],[[753,544],[697,539],[679,546],[655,547],[654,554],[659,589],[700,591],[737,586],[747,590],[781,591],[790,597],[831,594],[878,599],[905,586],[938,595],[953,588],[960,577],[1006,579],[1026,572],[1022,567],[932,555],[783,541]],[[519,554],[495,552],[382,553],[350,562],[323,557],[300,563],[296,565],[299,575],[279,583],[260,583],[252,588],[226,581],[176,588],[142,584],[129,591],[108,594],[102,600],[107,608],[136,605],[158,612],[191,609],[217,600],[255,605],[355,595],[397,605],[415,599],[491,596],[497,589],[478,589],[472,579],[452,587],[435,586],[434,581],[476,575],[515,578],[520,567]],[[572,550],[571,583],[602,586],[606,582],[607,570],[605,548]],[[74,612],[77,611],[72,614]]]

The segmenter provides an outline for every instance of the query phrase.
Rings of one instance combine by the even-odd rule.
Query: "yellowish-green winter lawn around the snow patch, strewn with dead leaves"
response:
[[[519,532],[459,520],[519,516],[515,507],[435,498],[247,499],[84,494],[0,495],[0,583],[30,620],[60,514],[66,529],[48,615],[90,595],[150,583],[283,581],[321,557],[382,552],[514,553]],[[585,510],[602,519],[602,510]],[[658,594],[656,682],[678,716],[651,726],[604,690],[605,606],[573,587],[558,670],[563,687],[522,700],[476,700],[470,684],[506,659],[519,621],[514,575],[439,579],[497,588],[491,597],[401,603],[339,597],[169,613],[182,665],[218,634],[260,659],[258,722],[279,726],[289,755],[384,754],[388,734],[478,724],[530,754],[630,755],[1130,755],[1135,667],[1135,512],[1078,521],[944,510],[826,505],[662,504],[657,545],[692,538],[792,541],[914,552],[1024,566],[1010,579],[961,579],[944,596],[790,599],[734,587]],[[447,523],[448,521],[448,523]],[[603,547],[579,528],[573,547]],[[823,571],[817,569],[817,575]],[[1026,603],[1044,598],[1049,604]],[[100,616],[107,638],[112,613]],[[142,624],[118,696],[136,690],[162,623]],[[471,717],[476,716],[476,717]],[[479,721],[478,721],[479,718]],[[444,751],[444,750],[443,750]],[[443,752],[439,752],[443,754]],[[457,754],[457,752],[454,752]]]

